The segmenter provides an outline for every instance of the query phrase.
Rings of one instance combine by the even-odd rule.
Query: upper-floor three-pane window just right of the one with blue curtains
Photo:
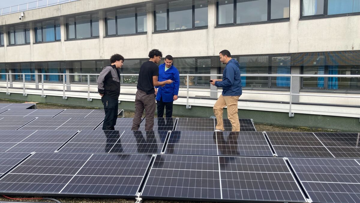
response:
[[[71,17],[66,23],[67,39],[86,39],[99,36],[99,17],[88,14]]]

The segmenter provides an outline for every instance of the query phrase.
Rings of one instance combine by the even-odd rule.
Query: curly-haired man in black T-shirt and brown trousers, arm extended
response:
[[[172,80],[158,82],[159,63],[162,57],[161,51],[153,49],[149,52],[149,61],[141,65],[138,79],[138,91],[135,96],[135,116],[132,120],[131,130],[139,130],[141,116],[145,109],[145,130],[153,130],[154,113],[156,109],[154,86],[164,86],[172,83]]]

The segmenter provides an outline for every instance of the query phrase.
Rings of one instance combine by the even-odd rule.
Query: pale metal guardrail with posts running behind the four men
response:
[[[97,87],[96,85],[90,85],[90,76],[96,75],[98,76],[99,74],[76,74],[76,73],[0,73],[0,75],[5,74],[6,75],[6,94],[11,94],[9,92],[9,87],[10,85],[13,85],[14,82],[10,82],[10,75],[22,75],[22,82],[21,81],[17,81],[15,84],[22,84],[23,85],[23,95],[26,96],[26,87],[25,85],[34,85],[34,83],[27,83],[25,82],[25,75],[41,75],[41,96],[42,97],[46,97],[45,93],[44,93],[44,75],[62,75],[63,76],[63,84],[59,85],[57,84],[46,84],[47,86],[62,86],[62,96],[63,99],[67,99],[67,95],[66,95],[66,88],[67,87],[87,87],[87,100],[88,101],[92,101],[92,98],[90,98],[90,87]],[[71,85],[68,80],[68,76],[70,75],[86,75],[87,76],[87,85]],[[139,74],[120,74],[122,76],[129,76],[129,75],[134,75],[134,76],[138,76]],[[191,105],[189,105],[189,92],[191,91],[198,91],[198,90],[190,90],[189,87],[189,76],[206,76],[206,77],[218,77],[218,76],[222,76],[221,74],[180,74],[180,76],[186,76],[186,90],[184,89],[180,89],[179,91],[186,91],[186,108],[191,108]],[[328,94],[296,94],[296,93],[292,93],[292,81],[293,81],[293,77],[343,77],[343,78],[360,78],[360,75],[300,75],[300,74],[243,74],[241,75],[242,77],[246,77],[246,76],[262,76],[262,77],[290,77],[290,89],[289,92],[250,92],[250,91],[243,91],[243,93],[246,94],[269,94],[269,95],[289,95],[289,116],[292,117],[294,116],[294,113],[292,112],[292,96],[320,96],[320,97],[333,97],[333,98],[360,98],[360,96],[345,96],[345,95],[328,95]],[[0,83],[4,83],[1,82]],[[51,83],[51,82],[49,82]],[[39,85],[39,82],[35,83],[35,85]],[[125,89],[134,89],[134,88],[129,88],[129,87],[122,87]],[[38,88],[40,89],[40,88]],[[217,90],[201,90],[202,92],[221,92],[221,91],[217,91]],[[19,91],[13,91],[13,92],[19,92]],[[60,95],[60,94],[58,94]]]

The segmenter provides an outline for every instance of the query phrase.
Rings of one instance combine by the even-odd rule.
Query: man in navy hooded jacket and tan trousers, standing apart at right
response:
[[[215,131],[225,130],[222,120],[224,107],[228,107],[228,118],[232,126],[231,131],[240,131],[238,99],[242,94],[242,87],[239,63],[237,60],[231,59],[231,54],[228,50],[220,52],[220,61],[222,64],[226,64],[224,73],[222,73],[222,79],[211,79],[211,85],[222,87],[222,93],[213,107],[217,120]]]

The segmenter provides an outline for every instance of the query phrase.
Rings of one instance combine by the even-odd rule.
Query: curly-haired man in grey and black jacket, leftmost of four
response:
[[[120,95],[120,70],[118,69],[121,68],[124,60],[120,54],[112,55],[111,65],[106,66],[98,78],[98,92],[105,110],[103,130],[115,130]]]

